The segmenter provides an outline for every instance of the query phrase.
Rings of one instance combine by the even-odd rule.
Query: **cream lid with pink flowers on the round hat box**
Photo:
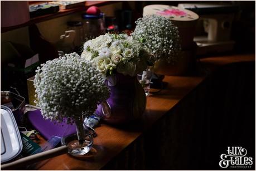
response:
[[[199,19],[199,16],[195,12],[161,4],[153,4],[143,8],[143,16],[152,14],[170,18],[177,25],[184,25],[185,23],[186,25],[189,23],[192,24]]]

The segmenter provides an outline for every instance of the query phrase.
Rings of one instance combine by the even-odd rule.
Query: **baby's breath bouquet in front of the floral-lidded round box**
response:
[[[176,61],[180,51],[178,28],[169,18],[162,16],[145,16],[136,21],[132,36],[144,42],[157,60],[165,59],[168,63]]]

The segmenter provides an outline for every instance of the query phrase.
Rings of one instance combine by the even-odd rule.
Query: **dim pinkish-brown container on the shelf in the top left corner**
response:
[[[1,27],[16,26],[28,21],[28,1],[1,1]]]

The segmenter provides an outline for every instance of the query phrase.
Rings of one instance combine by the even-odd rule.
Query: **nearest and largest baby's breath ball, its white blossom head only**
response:
[[[91,63],[76,53],[47,61],[38,67],[34,81],[37,105],[45,119],[67,124],[93,114],[108,99],[109,89]]]

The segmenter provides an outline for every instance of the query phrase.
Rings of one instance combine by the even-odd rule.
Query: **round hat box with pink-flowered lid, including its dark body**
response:
[[[190,75],[195,67],[195,49],[193,41],[196,23],[199,16],[187,9],[161,4],[149,5],[143,8],[143,16],[158,15],[170,18],[178,27],[180,34],[181,52],[175,63],[160,60],[154,65],[154,72],[162,75]]]

